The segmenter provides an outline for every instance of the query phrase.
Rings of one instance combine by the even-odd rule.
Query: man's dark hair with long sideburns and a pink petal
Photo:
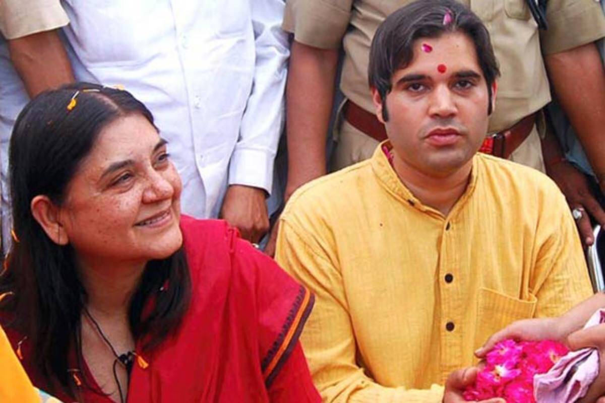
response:
[[[444,24],[448,14],[451,21]],[[376,88],[381,96],[382,118],[385,121],[388,120],[385,99],[391,91],[391,77],[413,59],[414,42],[420,38],[456,32],[462,32],[473,40],[479,66],[488,85],[488,114],[491,114],[491,85],[500,76],[500,69],[487,28],[473,11],[457,1],[417,0],[388,16],[372,40],[368,79],[370,87]]]

